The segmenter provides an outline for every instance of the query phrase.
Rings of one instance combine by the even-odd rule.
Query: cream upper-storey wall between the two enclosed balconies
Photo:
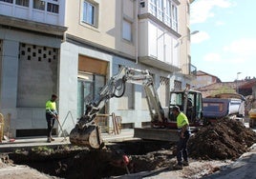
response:
[[[82,22],[82,2],[83,1],[67,1],[67,7],[72,7],[66,10],[65,26],[69,27],[67,34],[85,39],[90,45],[105,48],[106,50],[113,50],[114,52],[130,56],[130,58],[135,58],[136,1],[94,1],[98,8],[98,13],[96,14],[98,24],[96,26]],[[74,11],[77,11],[77,13]],[[78,13],[78,11],[80,13]],[[124,17],[131,20],[133,23],[132,42],[122,39],[122,22]]]

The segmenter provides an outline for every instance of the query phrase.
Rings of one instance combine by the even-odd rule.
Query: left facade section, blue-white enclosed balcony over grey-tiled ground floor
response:
[[[0,112],[11,136],[43,135],[58,89],[65,0],[0,1]]]

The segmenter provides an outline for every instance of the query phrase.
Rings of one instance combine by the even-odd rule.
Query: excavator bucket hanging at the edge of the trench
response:
[[[102,149],[104,147],[100,129],[96,125],[90,125],[83,129],[75,126],[75,129],[72,129],[70,133],[70,142],[75,146],[88,147],[90,149]]]

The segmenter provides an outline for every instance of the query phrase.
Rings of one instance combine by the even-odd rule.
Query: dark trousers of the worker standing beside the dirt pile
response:
[[[186,130],[184,132],[184,138],[180,137],[180,140],[178,142],[177,145],[177,161],[178,161],[178,165],[182,165],[182,159],[183,161],[188,161],[187,157],[187,141],[190,137],[190,131]]]

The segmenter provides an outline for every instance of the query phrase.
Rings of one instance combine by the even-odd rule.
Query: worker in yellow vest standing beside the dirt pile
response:
[[[177,145],[178,164],[175,169],[182,169],[182,166],[188,166],[187,141],[190,137],[189,122],[178,106],[173,107],[172,111],[177,118],[177,127],[180,133],[180,140]]]

